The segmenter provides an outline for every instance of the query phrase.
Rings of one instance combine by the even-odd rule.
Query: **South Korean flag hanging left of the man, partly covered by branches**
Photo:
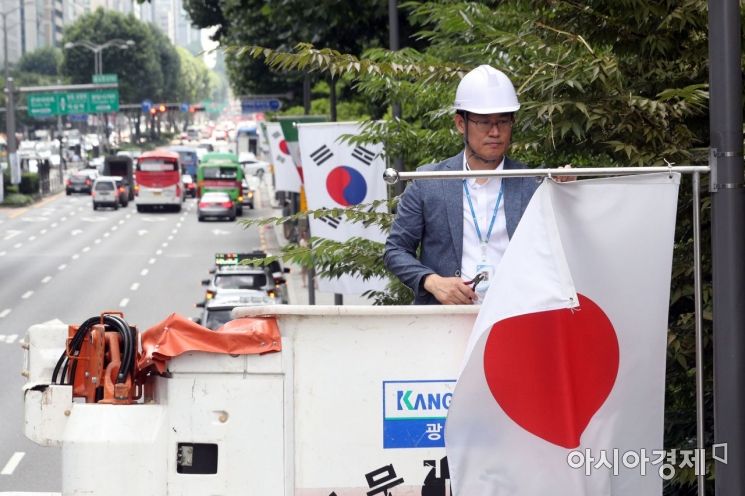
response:
[[[343,135],[359,134],[359,123],[299,123],[297,127],[309,210],[353,207],[386,199],[383,182],[385,161],[381,156],[383,146],[350,144],[341,140]],[[334,241],[362,237],[385,242],[385,235],[378,227],[353,224],[331,214],[317,219],[311,217],[310,229],[311,235]],[[341,294],[360,294],[384,286],[382,280],[363,282],[352,277],[319,281],[320,291]]]

